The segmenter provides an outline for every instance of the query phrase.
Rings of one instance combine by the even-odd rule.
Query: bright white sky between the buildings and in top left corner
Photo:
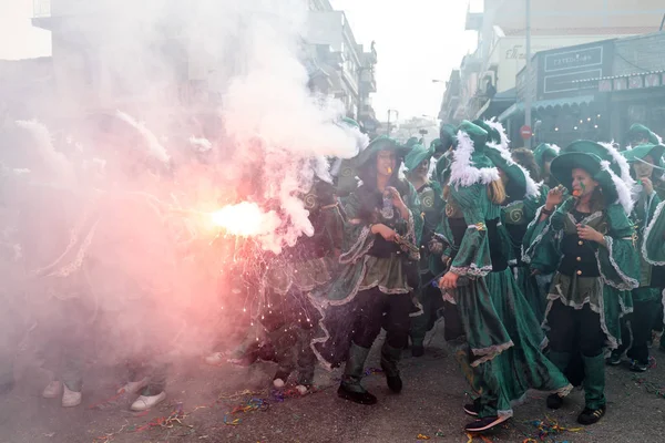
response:
[[[33,2],[0,0],[0,59],[49,55],[50,33],[31,24]],[[388,110],[399,120],[436,116],[450,71],[475,47],[464,31],[464,0],[331,0],[344,10],[358,43],[376,41],[379,56],[374,107],[380,121]],[[478,0],[473,0],[475,8]],[[432,80],[443,82],[433,83]],[[395,120],[395,114],[392,116]]]

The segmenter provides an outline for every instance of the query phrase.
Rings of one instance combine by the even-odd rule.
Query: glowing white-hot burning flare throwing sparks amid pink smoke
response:
[[[224,206],[211,214],[211,217],[216,227],[238,237],[266,235],[280,224],[277,214],[264,213],[257,204],[248,202]]]

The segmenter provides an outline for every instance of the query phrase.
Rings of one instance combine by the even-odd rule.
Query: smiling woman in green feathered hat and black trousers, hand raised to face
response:
[[[581,424],[606,411],[604,348],[622,343],[621,318],[633,310],[638,286],[635,228],[627,162],[611,145],[579,141],[552,162],[557,186],[530,226],[532,262],[556,266],[543,327],[550,359],[573,383],[583,382]],[[557,409],[562,399],[550,396]]]

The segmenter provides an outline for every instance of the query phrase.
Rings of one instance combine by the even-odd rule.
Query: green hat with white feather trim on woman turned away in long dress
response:
[[[488,132],[482,127],[469,121],[460,124],[450,165],[451,185],[488,185],[499,179],[499,169],[485,155],[487,141]]]

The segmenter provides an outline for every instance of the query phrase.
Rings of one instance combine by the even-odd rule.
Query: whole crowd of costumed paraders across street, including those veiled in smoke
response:
[[[338,125],[360,132],[349,119]],[[585,395],[577,421],[594,424],[607,409],[605,367],[647,371],[663,331],[665,145],[637,124],[628,140],[512,148],[493,120],[444,124],[430,146],[379,136],[354,158],[328,158],[330,176],[311,166],[311,188],[297,197],[314,229],[278,253],[250,236],[203,238],[173,203],[215,187],[203,141],[190,141],[203,148],[175,167],[155,152],[110,154],[105,168],[123,183],[105,181],[103,192],[76,188],[71,175],[95,183],[99,165],[70,171],[75,150],[0,158],[11,324],[0,390],[13,388],[16,356],[33,352],[52,374],[42,395],[76,406],[89,356],[105,354],[127,368],[119,392],[136,395],[131,409],[154,408],[166,399],[173,343],[215,333],[183,322],[209,308],[198,298],[214,286],[228,301],[219,316],[244,339],[208,348],[204,361],[274,361],[274,389],[305,395],[318,364],[342,367],[338,395],[376,404],[362,378],[381,330],[382,374],[399,393],[409,383],[401,356],[422,357],[440,322],[474,393],[467,431],[509,420],[529,390],[559,409],[573,387]],[[225,203],[254,202],[260,188],[256,172]]]

